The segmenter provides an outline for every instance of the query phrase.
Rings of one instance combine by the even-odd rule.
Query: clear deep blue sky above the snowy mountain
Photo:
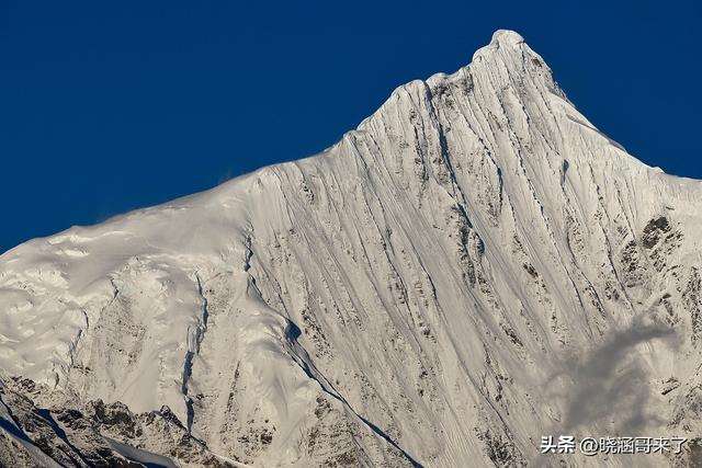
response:
[[[512,28],[652,165],[702,178],[698,2],[0,0],[0,251],[333,144]]]

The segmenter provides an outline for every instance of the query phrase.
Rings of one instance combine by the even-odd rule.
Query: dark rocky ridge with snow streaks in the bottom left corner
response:
[[[29,379],[0,384],[0,466],[236,466],[210,453],[168,407],[133,414],[121,402],[50,403],[57,396]]]

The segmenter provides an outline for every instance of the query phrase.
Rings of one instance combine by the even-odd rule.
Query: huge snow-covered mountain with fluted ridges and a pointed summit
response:
[[[695,466],[700,207],[498,31],[320,155],[0,256],[0,464]]]

